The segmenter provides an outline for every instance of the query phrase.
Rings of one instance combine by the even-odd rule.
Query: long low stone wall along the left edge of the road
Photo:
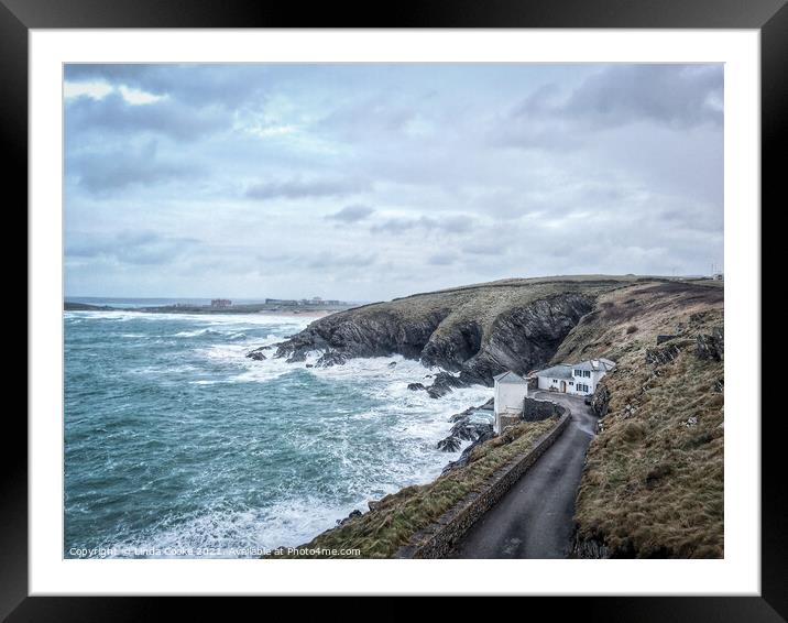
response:
[[[428,528],[414,535],[411,543],[402,547],[395,557],[448,558],[460,538],[545,453],[545,450],[563,433],[570,419],[571,412],[565,409],[556,426],[544,435],[530,450],[497,470],[490,477],[481,491],[470,493]]]

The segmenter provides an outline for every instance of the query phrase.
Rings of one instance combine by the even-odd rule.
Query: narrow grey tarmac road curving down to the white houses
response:
[[[597,417],[582,397],[541,391],[529,395],[569,407],[571,422],[471,527],[458,545],[456,558],[566,558],[569,553],[574,499]]]

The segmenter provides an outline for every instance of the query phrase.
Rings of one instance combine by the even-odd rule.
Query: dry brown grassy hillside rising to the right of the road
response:
[[[645,362],[658,334],[693,336],[722,325],[721,291],[707,292],[677,300],[670,292],[619,291],[608,310],[620,321],[584,328],[594,345],[587,352],[624,336],[597,351],[619,367],[604,380],[610,411],[589,449],[576,512],[579,538],[605,545],[611,556],[723,556],[724,398],[715,390],[723,363],[698,359],[691,346],[669,363]],[[627,335],[633,308],[638,331]],[[577,336],[565,345],[572,354],[582,349]]]

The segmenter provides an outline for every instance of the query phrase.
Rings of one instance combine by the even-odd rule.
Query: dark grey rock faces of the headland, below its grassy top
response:
[[[594,304],[593,296],[579,292],[546,294],[504,308],[482,330],[477,321],[447,320],[456,310],[452,296],[458,295],[433,293],[326,316],[281,342],[275,356],[304,361],[314,350],[346,359],[401,354],[460,372],[462,384],[436,376],[430,395],[437,397],[471,383],[491,386],[493,376],[505,370],[525,373],[541,367]],[[424,299],[429,306],[420,305]]]

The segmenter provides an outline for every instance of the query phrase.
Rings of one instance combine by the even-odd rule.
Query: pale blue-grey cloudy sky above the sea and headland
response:
[[[721,65],[68,65],[66,294],[709,273]]]

